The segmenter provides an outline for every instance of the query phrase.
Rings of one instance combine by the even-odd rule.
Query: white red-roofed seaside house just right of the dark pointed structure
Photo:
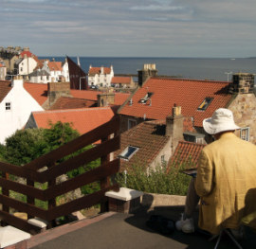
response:
[[[114,77],[113,66],[110,67],[92,67],[90,65],[88,72],[88,85],[98,85],[101,87],[110,87],[111,80]]]

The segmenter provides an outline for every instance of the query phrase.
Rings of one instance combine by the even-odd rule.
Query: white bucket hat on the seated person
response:
[[[204,119],[203,127],[205,131],[210,134],[240,129],[240,127],[234,123],[233,113],[225,108],[216,110],[210,118]]]

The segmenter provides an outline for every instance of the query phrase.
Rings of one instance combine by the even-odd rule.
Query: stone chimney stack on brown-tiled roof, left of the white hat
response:
[[[170,135],[172,138],[172,153],[174,153],[179,140],[183,140],[183,115],[181,114],[181,106],[173,107],[172,116],[166,117],[166,135]]]

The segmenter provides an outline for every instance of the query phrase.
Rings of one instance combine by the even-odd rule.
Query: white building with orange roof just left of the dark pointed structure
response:
[[[58,82],[62,80],[62,78],[64,78],[65,81],[69,81],[68,63],[66,60],[65,62],[55,62],[54,59],[52,59],[52,62],[46,60],[42,70],[50,74],[50,81],[54,79],[54,82]]]

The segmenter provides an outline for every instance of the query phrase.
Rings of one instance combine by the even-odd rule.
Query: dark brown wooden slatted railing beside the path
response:
[[[119,191],[119,185],[110,186],[109,181],[110,176],[119,171],[119,159],[110,162],[110,153],[119,150],[119,123],[119,117],[115,117],[93,131],[82,134],[80,137],[70,141],[64,146],[50,151],[23,167],[0,162],[0,171],[2,171],[2,178],[0,177],[0,187],[2,187],[2,194],[0,194],[0,204],[2,204],[0,220],[2,221],[2,225],[10,224],[31,234],[35,234],[39,231],[38,227],[9,214],[9,207],[19,212],[27,213],[27,219],[38,217],[47,221],[48,228],[54,225],[56,218],[93,205],[101,204],[101,212],[107,211],[105,192],[108,190]],[[114,137],[110,138],[113,133],[115,134]],[[64,158],[64,156],[79,151],[98,140],[101,140],[100,145],[88,151],[83,151],[59,165],[56,165],[56,161]],[[56,177],[86,165],[98,158],[101,158],[100,167],[84,172],[62,184],[56,185]],[[38,169],[42,169],[46,166],[47,169],[45,171],[38,171]],[[27,185],[11,181],[9,174],[26,178]],[[101,190],[63,205],[56,206],[56,197],[96,181],[101,181]],[[45,190],[36,188],[34,187],[35,182],[41,184],[47,182],[48,187]],[[26,195],[27,203],[10,198],[9,190]],[[48,208],[43,209],[35,206],[35,199],[47,202]]]

